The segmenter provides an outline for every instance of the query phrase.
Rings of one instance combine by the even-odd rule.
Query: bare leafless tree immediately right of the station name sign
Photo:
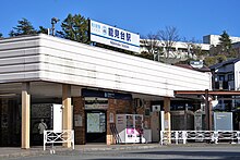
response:
[[[149,33],[148,35],[142,37],[141,42],[143,47],[147,50],[147,52],[154,57],[155,60],[155,57],[160,51],[158,35]]]

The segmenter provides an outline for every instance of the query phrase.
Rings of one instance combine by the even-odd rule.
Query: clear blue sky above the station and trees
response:
[[[240,0],[0,0],[0,33],[9,37],[17,21],[27,19],[35,28],[51,27],[68,14],[81,14],[141,36],[156,34],[166,26],[181,38],[202,41],[205,35],[240,37]]]

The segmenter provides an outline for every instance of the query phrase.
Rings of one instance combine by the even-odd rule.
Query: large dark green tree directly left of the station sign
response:
[[[79,42],[88,44],[88,21],[81,14],[69,14],[61,24],[62,32],[58,32],[60,36]]]

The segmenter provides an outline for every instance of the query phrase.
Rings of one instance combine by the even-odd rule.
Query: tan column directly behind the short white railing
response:
[[[62,85],[62,128],[72,130],[71,85]],[[70,148],[71,143],[63,144],[63,147]]]

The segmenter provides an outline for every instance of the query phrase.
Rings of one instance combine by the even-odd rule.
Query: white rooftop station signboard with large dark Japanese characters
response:
[[[140,35],[89,20],[91,41],[140,52]]]

